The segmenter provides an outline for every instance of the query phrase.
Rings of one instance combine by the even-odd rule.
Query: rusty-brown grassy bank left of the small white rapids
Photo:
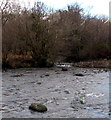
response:
[[[2,60],[3,69],[15,69],[15,68],[30,68],[30,67],[52,67],[53,62],[46,59],[45,62],[34,61],[31,56],[28,55],[8,55],[7,59]]]

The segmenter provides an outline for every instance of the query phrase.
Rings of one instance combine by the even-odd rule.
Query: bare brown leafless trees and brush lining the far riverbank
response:
[[[105,16],[85,15],[78,4],[50,12],[42,2],[29,9],[6,0],[0,9],[3,68],[51,67],[59,57],[66,62],[110,59]]]

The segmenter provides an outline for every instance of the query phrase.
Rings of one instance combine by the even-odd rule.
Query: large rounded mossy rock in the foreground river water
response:
[[[38,104],[38,103],[32,103],[29,106],[29,109],[37,111],[37,112],[46,112],[47,111],[47,107],[45,105]]]

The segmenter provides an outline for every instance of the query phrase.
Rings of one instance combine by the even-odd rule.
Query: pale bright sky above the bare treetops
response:
[[[34,1],[38,0],[20,0],[25,1],[25,3],[31,2],[33,4]],[[44,2],[47,6],[50,6],[54,9],[62,9],[65,8],[68,4],[78,2],[81,7],[85,9],[90,9],[92,14],[99,15],[107,15],[109,16],[109,2],[111,0],[39,0]]]

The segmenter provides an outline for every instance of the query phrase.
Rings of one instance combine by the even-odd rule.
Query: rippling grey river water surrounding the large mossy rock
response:
[[[83,76],[76,76],[81,73]],[[82,99],[83,103],[78,102]],[[29,110],[42,103],[48,111]],[[3,118],[109,117],[109,70],[69,67],[20,68],[2,73]]]

